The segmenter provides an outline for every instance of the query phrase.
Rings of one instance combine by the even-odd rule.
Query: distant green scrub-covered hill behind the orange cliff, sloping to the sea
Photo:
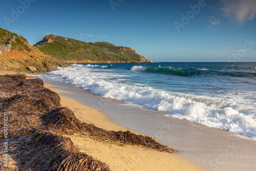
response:
[[[67,62],[151,62],[131,48],[108,42],[87,43],[53,34],[45,36],[34,47]]]

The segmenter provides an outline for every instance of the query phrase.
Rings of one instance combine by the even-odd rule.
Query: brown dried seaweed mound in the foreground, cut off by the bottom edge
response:
[[[20,156],[22,170],[110,170],[105,163],[80,153],[70,138],[52,132],[35,133],[26,148],[28,152]]]

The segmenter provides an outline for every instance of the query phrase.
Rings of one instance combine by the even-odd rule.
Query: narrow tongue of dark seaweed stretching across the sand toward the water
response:
[[[57,130],[62,130],[66,134],[74,132],[89,134],[90,136],[100,140],[110,140],[112,142],[120,142],[124,144],[142,145],[148,148],[157,149],[162,152],[175,152],[175,149],[162,145],[148,136],[136,135],[130,131],[106,131],[99,127],[81,122],[74,113],[68,108],[58,108],[50,113],[42,116],[46,121],[46,126],[53,127]]]

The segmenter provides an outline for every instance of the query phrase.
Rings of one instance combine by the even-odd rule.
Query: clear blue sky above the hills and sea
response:
[[[0,0],[0,28],[130,47],[155,62],[256,61],[255,0]]]

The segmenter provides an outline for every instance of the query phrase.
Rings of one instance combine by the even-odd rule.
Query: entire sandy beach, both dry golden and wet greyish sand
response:
[[[0,75],[5,74],[16,73],[0,72]],[[60,95],[61,105],[71,109],[79,120],[109,131],[129,130],[137,135],[155,137],[164,145],[179,150],[170,154],[136,145],[108,143],[80,134],[65,135],[80,152],[105,162],[111,170],[253,170],[255,166],[254,140],[166,118],[162,113],[134,108],[66,83],[44,82],[46,88]]]

